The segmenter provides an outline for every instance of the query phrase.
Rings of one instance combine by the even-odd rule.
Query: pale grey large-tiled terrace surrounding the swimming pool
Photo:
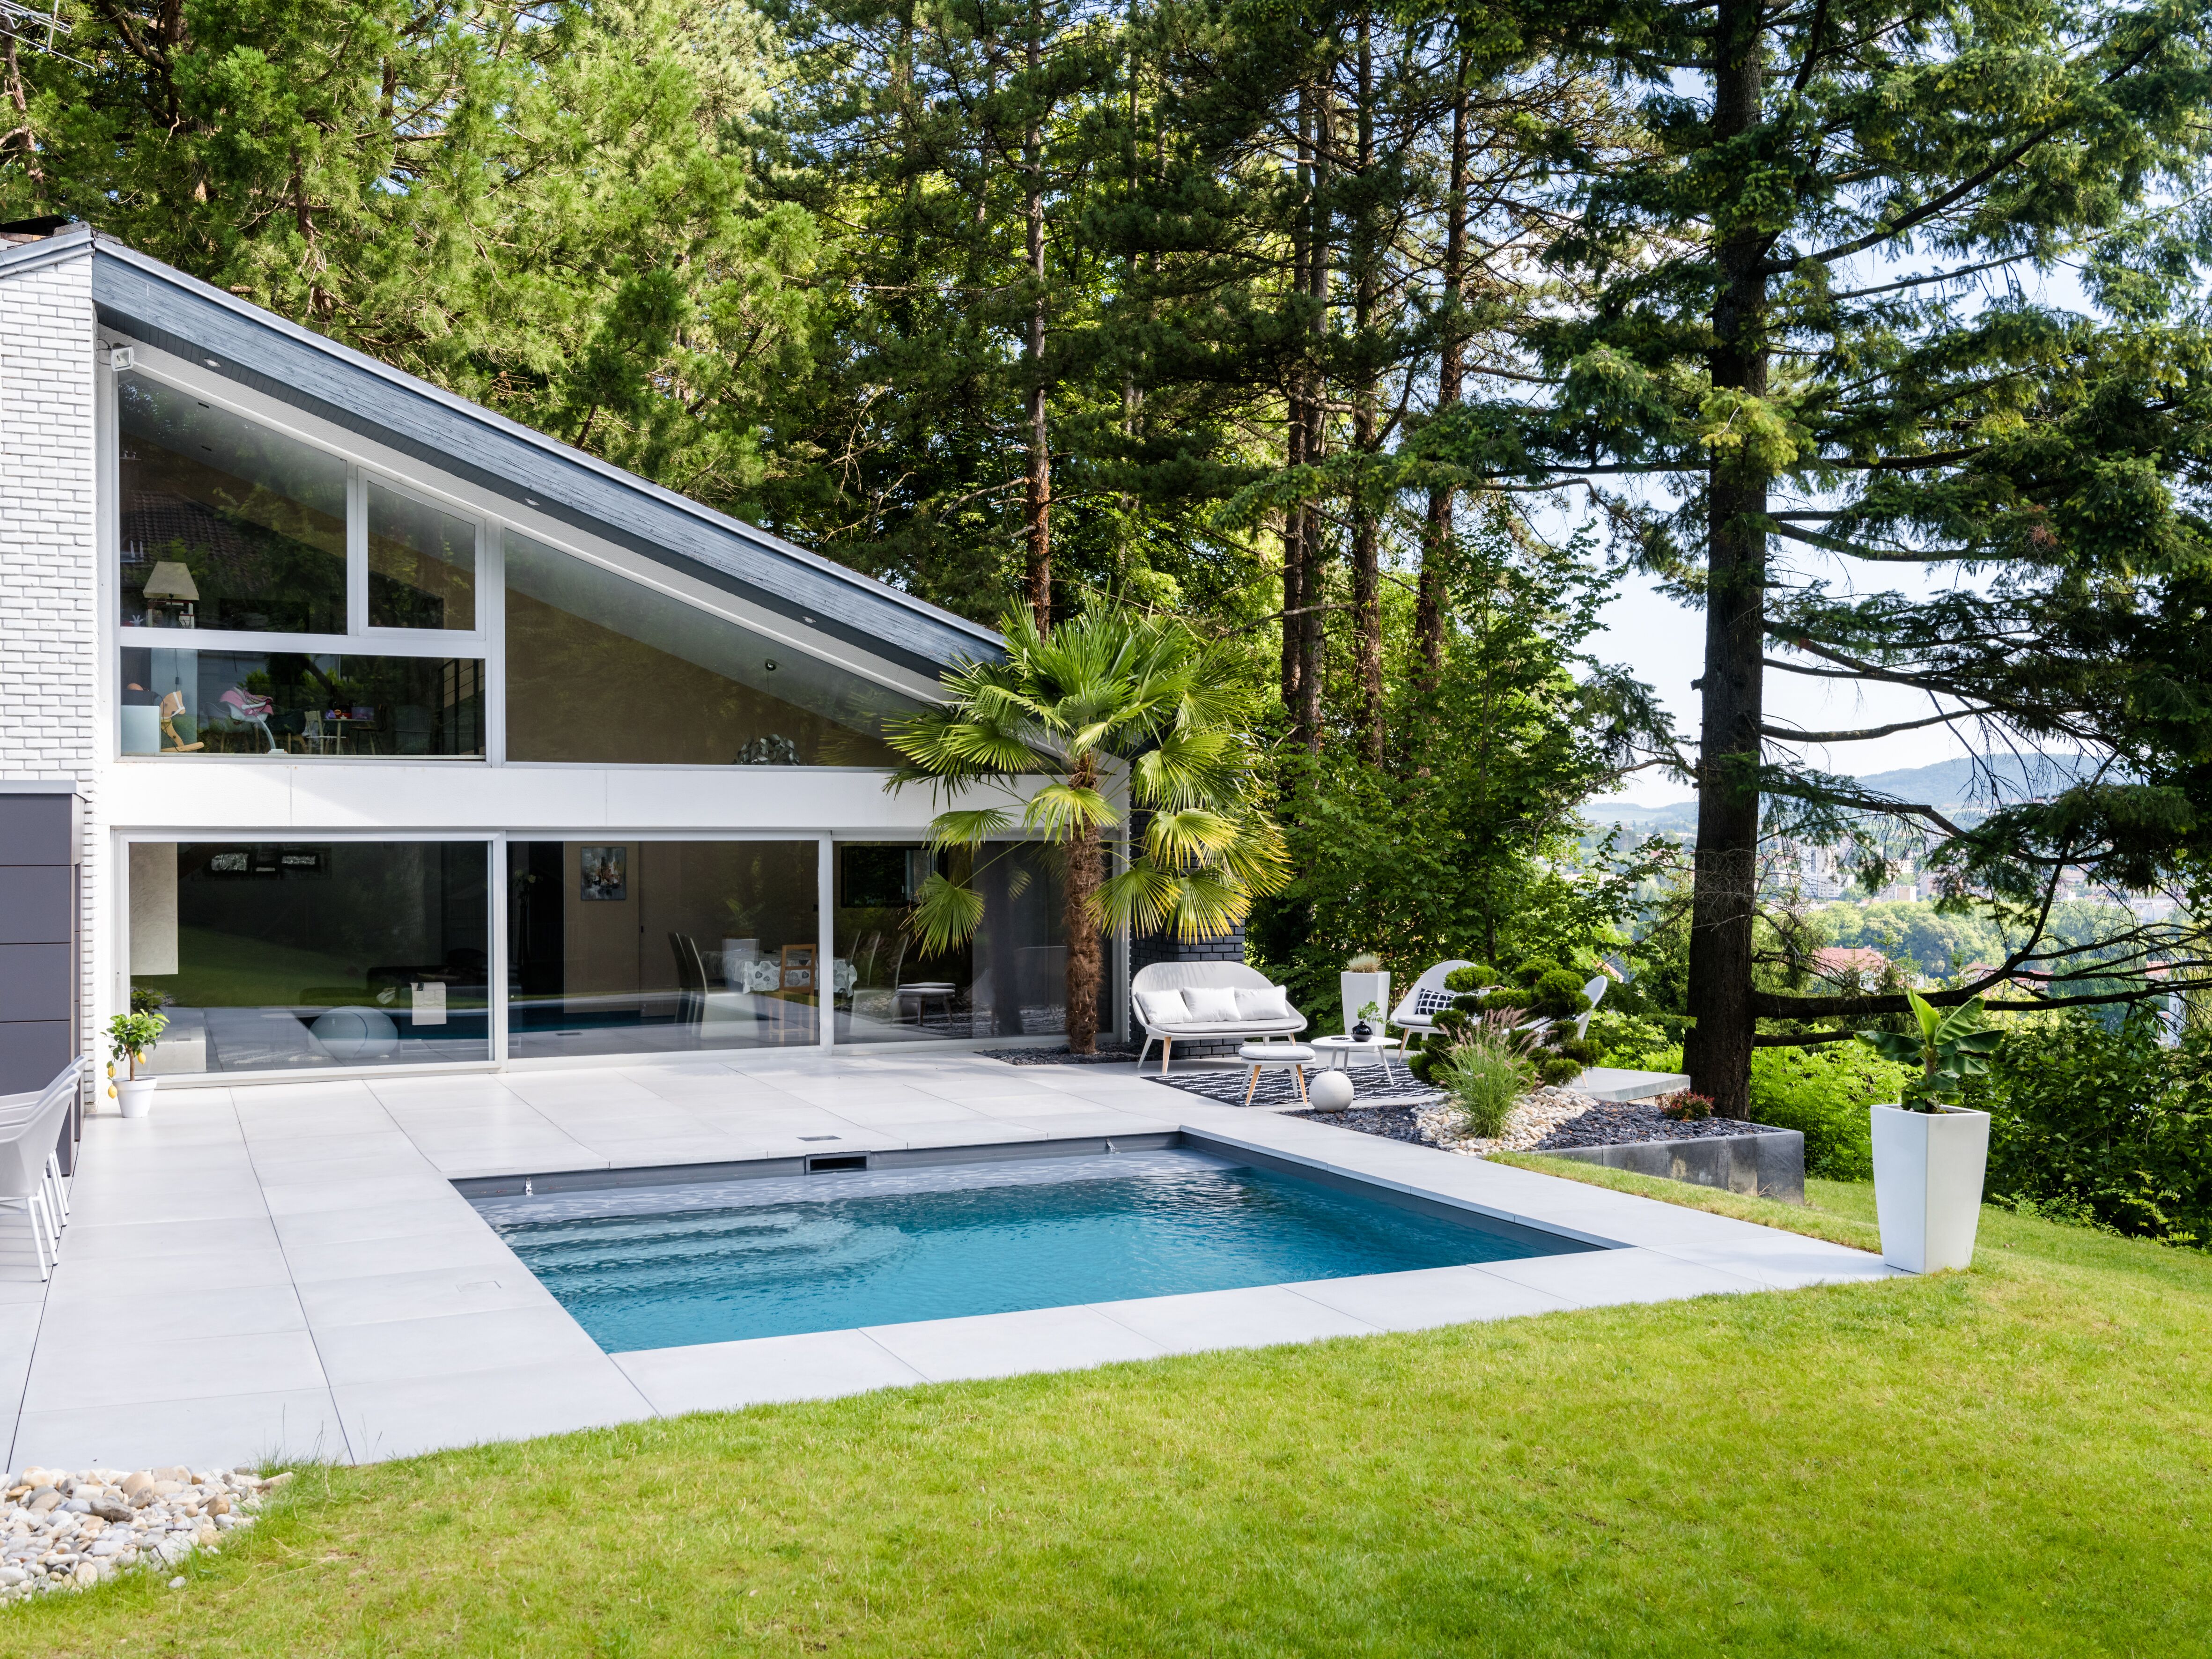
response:
[[[1621,1245],[1568,1256],[602,1354],[451,1186],[1190,1130]],[[84,1126],[62,1261],[0,1219],[7,1467],[374,1462],[679,1411],[1714,1292],[1878,1259],[1108,1066],[754,1051],[564,1071],[170,1088]]]

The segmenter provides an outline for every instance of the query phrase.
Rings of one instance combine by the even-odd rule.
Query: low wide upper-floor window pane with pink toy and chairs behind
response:
[[[484,664],[122,648],[124,754],[482,757]]]

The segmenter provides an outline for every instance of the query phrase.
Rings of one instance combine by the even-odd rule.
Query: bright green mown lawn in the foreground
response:
[[[2203,1655],[2208,1354],[2212,1256],[1989,1210],[1971,1274],[310,1469],[0,1650]]]

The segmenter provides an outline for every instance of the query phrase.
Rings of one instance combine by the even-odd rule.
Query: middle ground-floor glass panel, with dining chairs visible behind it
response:
[[[812,841],[515,841],[507,1053],[821,1042]]]

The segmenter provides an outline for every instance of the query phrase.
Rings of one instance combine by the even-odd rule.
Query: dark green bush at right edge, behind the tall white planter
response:
[[[2212,1245],[2212,1033],[2037,1015],[2006,1033],[1969,1106],[1989,1110],[1991,1194],[2042,1214]]]

